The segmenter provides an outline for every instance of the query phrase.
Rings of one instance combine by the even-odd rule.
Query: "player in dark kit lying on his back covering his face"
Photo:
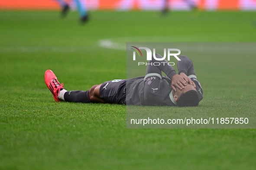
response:
[[[162,58],[156,54],[157,58]],[[55,101],[80,103],[132,104],[144,106],[198,106],[203,90],[197,80],[192,61],[180,56],[178,73],[167,60],[159,66],[154,57],[149,60],[146,76],[134,79],[116,79],[94,85],[87,91],[66,91],[51,70],[45,72],[45,83]],[[162,71],[167,76],[162,76]]]

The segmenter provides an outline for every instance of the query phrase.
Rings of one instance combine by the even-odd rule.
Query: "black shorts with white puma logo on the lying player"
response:
[[[104,103],[126,104],[126,80],[116,79],[102,83],[100,98]]]

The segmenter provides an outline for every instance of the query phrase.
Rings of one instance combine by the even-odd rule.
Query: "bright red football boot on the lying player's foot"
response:
[[[45,83],[49,90],[52,92],[53,98],[55,101],[60,101],[58,99],[58,94],[60,89],[63,88],[63,83],[60,84],[57,80],[57,77],[55,74],[52,72],[52,70],[46,70],[45,72]]]

